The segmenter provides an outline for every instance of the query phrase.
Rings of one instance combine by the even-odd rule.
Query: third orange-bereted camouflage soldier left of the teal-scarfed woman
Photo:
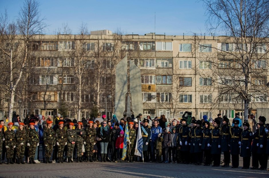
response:
[[[76,131],[73,129],[74,123],[69,123],[69,128],[66,130],[66,137],[67,137],[67,158],[68,163],[73,163],[72,155],[75,147],[75,143],[77,141],[77,134]]]

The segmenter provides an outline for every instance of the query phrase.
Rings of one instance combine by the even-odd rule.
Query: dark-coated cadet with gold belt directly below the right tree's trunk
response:
[[[243,129],[241,136],[241,151],[240,156],[243,157],[243,167],[242,169],[249,169],[250,166],[250,156],[251,156],[251,142],[252,142],[252,131],[249,130],[249,123],[243,123]]]

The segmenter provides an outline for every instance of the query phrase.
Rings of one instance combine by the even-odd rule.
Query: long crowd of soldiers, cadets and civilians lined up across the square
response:
[[[46,120],[42,115],[29,115],[23,122],[14,115],[7,127],[0,120],[0,164],[5,163],[6,157],[7,164],[36,164],[42,158],[43,163],[139,161],[219,167],[223,152],[221,167],[230,167],[232,157],[231,168],[238,168],[240,156],[242,169],[250,168],[252,157],[251,169],[266,170],[269,155],[266,118],[260,116],[256,123],[252,115],[242,124],[236,114],[230,125],[227,116],[217,116],[214,120],[206,115],[196,120],[191,112],[185,112],[180,121],[173,119],[170,123],[165,115],[151,119],[143,118],[142,114],[137,117],[124,114],[120,121],[116,115],[107,119],[100,113],[82,121],[64,119],[60,114]],[[126,127],[128,138],[124,133]],[[139,134],[143,140],[141,156],[136,154]]]

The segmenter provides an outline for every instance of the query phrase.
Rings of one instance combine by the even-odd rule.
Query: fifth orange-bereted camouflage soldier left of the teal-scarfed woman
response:
[[[52,129],[52,121],[47,122],[47,127],[44,129],[44,145],[45,145],[45,159],[46,162],[52,163],[50,157],[52,155],[52,149],[55,145],[55,132]]]

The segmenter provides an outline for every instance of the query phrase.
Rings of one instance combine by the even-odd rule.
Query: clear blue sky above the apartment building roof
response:
[[[56,34],[67,23],[72,34],[82,22],[89,31],[120,28],[124,34],[182,35],[207,33],[203,3],[198,0],[43,0],[41,17],[49,26],[45,34]],[[0,0],[10,19],[16,18],[23,0]],[[155,25],[156,15],[156,25]]]

